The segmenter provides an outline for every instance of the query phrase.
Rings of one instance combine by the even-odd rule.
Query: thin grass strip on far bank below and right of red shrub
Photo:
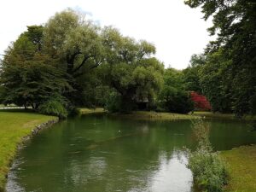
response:
[[[232,113],[212,113],[212,112],[194,112],[193,115],[201,116],[212,119],[237,119],[235,114]],[[242,119],[244,120],[256,120],[256,116],[246,115]]]

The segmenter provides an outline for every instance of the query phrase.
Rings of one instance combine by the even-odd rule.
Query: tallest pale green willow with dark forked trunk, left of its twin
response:
[[[79,82],[88,80],[86,73],[104,61],[100,28],[72,9],[57,13],[45,25],[44,51],[67,73],[73,92],[65,96],[75,105],[84,105],[85,90]]]

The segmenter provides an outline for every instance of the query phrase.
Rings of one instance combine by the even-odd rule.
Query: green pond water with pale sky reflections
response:
[[[191,122],[145,122],[88,115],[67,119],[20,150],[8,192],[191,192],[184,147],[194,149]],[[256,143],[246,123],[211,120],[216,150]]]

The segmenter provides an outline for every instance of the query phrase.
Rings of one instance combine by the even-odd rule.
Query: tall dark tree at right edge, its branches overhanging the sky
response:
[[[232,108],[235,113],[256,111],[256,2],[253,0],[187,0],[191,8],[201,7],[204,19],[212,16],[211,35],[216,41],[207,46],[207,53],[223,48],[231,61]]]

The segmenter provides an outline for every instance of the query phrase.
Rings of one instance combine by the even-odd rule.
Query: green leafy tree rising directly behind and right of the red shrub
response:
[[[224,58],[223,51],[207,55],[205,65],[201,67],[200,83],[203,93],[211,102],[214,112],[230,113],[232,110],[231,62]]]

